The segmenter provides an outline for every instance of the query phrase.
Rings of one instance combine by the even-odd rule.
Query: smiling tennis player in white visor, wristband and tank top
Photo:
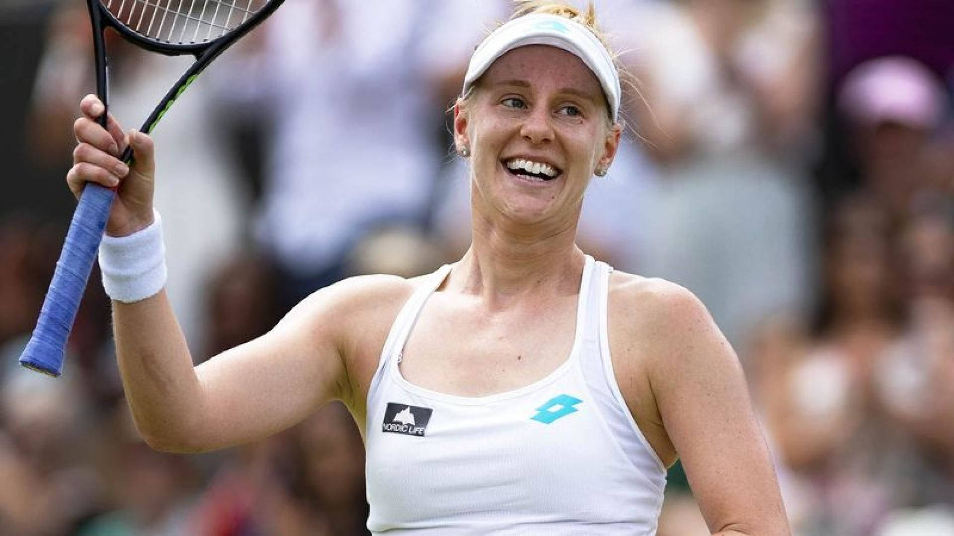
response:
[[[788,534],[745,379],[704,306],[574,244],[619,106],[593,9],[520,2],[454,107],[471,170],[464,257],[421,278],[343,280],[194,367],[162,290],[153,143],[131,132],[126,170],[122,130],[99,127],[85,98],[68,181],[119,185],[100,265],[143,437],[206,451],[337,399],[363,430],[376,534],[653,534],[677,456],[712,532]]]

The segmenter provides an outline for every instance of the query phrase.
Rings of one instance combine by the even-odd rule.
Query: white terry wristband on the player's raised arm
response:
[[[162,243],[162,218],[127,237],[103,237],[99,269],[106,295],[133,303],[155,296],[166,285],[166,247]]]

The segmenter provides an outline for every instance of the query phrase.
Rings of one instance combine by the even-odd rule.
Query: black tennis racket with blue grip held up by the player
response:
[[[104,44],[107,28],[151,52],[192,54],[196,62],[166,93],[142,124],[152,133],[176,98],[189,87],[218,54],[251,31],[279,8],[284,0],[87,0],[93,25],[96,94],[107,108],[99,117],[105,128],[109,116],[109,68]],[[127,147],[120,159],[133,161]],[[66,242],[30,341],[20,356],[27,368],[59,376],[67,339],[79,309],[93,260],[106,229],[115,191],[88,183],[73,213]]]

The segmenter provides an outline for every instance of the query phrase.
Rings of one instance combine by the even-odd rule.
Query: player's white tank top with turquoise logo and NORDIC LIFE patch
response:
[[[655,533],[666,468],[619,392],[607,338],[612,268],[587,257],[570,357],[546,378],[485,397],[404,380],[398,363],[444,266],[384,342],[367,396],[374,534]]]

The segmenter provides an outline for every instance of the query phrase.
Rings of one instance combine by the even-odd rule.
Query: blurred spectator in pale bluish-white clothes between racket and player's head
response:
[[[433,110],[496,9],[290,0],[269,21],[270,60],[253,65],[270,83],[243,98],[274,116],[255,237],[283,309],[344,277],[366,232],[425,222],[442,158]]]

